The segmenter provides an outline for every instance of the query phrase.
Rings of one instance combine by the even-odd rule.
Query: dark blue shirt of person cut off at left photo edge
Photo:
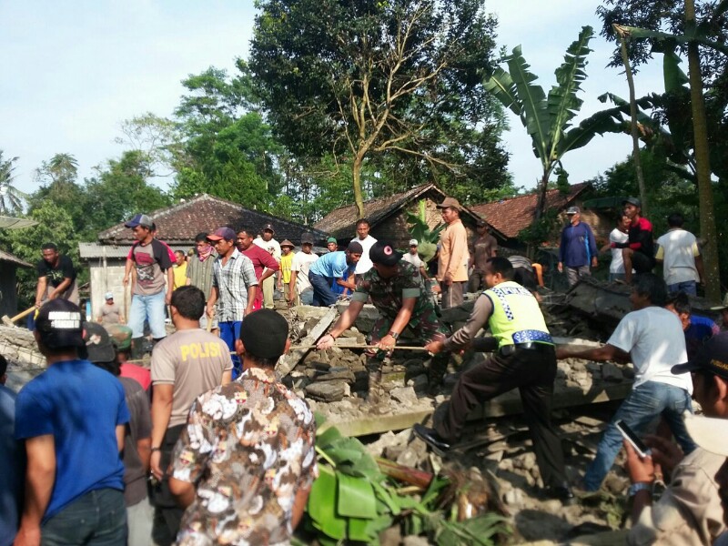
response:
[[[0,385],[0,546],[10,546],[23,510],[25,449],[15,440],[15,392]]]

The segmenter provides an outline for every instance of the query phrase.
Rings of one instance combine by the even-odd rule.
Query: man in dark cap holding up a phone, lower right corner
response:
[[[676,445],[659,436],[645,439],[652,454],[644,459],[624,443],[634,499],[630,544],[709,545],[726,531],[716,474],[725,466],[728,452],[728,333],[715,336],[697,357],[672,371],[691,372],[695,400],[706,418],[718,419],[685,414],[687,431],[700,447],[684,457]],[[653,504],[655,463],[672,480]]]

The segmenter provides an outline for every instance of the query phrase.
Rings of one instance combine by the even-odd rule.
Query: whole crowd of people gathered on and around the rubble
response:
[[[451,197],[438,206],[445,227],[432,278],[417,239],[400,252],[369,235],[366,219],[343,250],[330,238],[320,257],[311,234],[296,252],[270,224],[200,233],[188,256],[159,241],[152,219],[138,214],[125,224],[135,239],[124,276],[127,318],[113,292],[96,317],[86,316],[71,260],[44,245],[34,335],[47,369],[17,396],[0,386],[0,544],[287,543],[318,470],[313,416],[275,373],[290,344],[288,322],[273,309],[276,293],[289,306],[349,299],[319,350],[332,348],[365,304],[379,310],[368,349],[371,404],[382,361],[405,332],[430,353],[432,394],[453,351],[488,353],[460,374],[432,427],[414,426],[432,450],[447,454],[471,410],[519,389],[542,494],[570,504],[602,487],[622,449],[622,420],[652,449],[641,456],[627,445],[631,543],[728,542],[728,449],[710,433],[728,431],[728,333],[693,313],[689,296],[703,268],[683,218],[672,214],[655,245],[639,200],[623,205],[602,251],[612,253],[610,280],[631,284],[633,310],[605,345],[576,351],[551,338],[540,266],[500,256],[484,221],[469,240]],[[573,285],[598,266],[599,250],[580,208],[566,212],[558,269]],[[652,273],[658,263],[663,278]],[[478,294],[470,319],[451,331],[440,309],[459,306],[468,291]],[[728,306],[720,310],[728,324]],[[148,339],[147,369],[139,358]],[[570,358],[629,360],[635,369],[632,392],[578,484],[567,477],[551,422],[557,361]],[[5,368],[0,357],[0,383]],[[693,399],[706,417],[693,416]]]

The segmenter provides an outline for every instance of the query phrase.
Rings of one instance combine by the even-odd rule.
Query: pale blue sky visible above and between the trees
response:
[[[489,0],[500,19],[498,41],[522,45],[548,90],[553,70],[581,25],[598,33],[595,0]],[[151,111],[170,116],[180,80],[208,66],[233,70],[247,56],[252,0],[2,0],[0,1],[0,149],[19,157],[15,185],[32,191],[34,171],[56,153],[74,155],[79,174],[118,157],[120,123]],[[624,76],[606,68],[612,44],[601,37],[583,86],[585,116],[605,91],[628,96]],[[636,79],[637,96],[662,90],[660,59]],[[576,119],[578,123],[580,118]],[[514,116],[504,136],[517,186],[533,187],[541,170]],[[631,150],[628,136],[596,137],[565,156],[571,182],[596,176]]]

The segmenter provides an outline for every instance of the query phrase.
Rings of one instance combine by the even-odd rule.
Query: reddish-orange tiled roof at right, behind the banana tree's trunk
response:
[[[546,210],[551,208],[561,210],[570,206],[571,202],[587,187],[590,187],[587,182],[574,184],[568,194],[563,194],[558,189],[550,189],[546,192]],[[475,205],[470,207],[470,210],[484,217],[491,227],[498,229],[507,238],[516,238],[521,229],[531,225],[537,202],[538,196],[533,193],[501,199],[494,203]]]

